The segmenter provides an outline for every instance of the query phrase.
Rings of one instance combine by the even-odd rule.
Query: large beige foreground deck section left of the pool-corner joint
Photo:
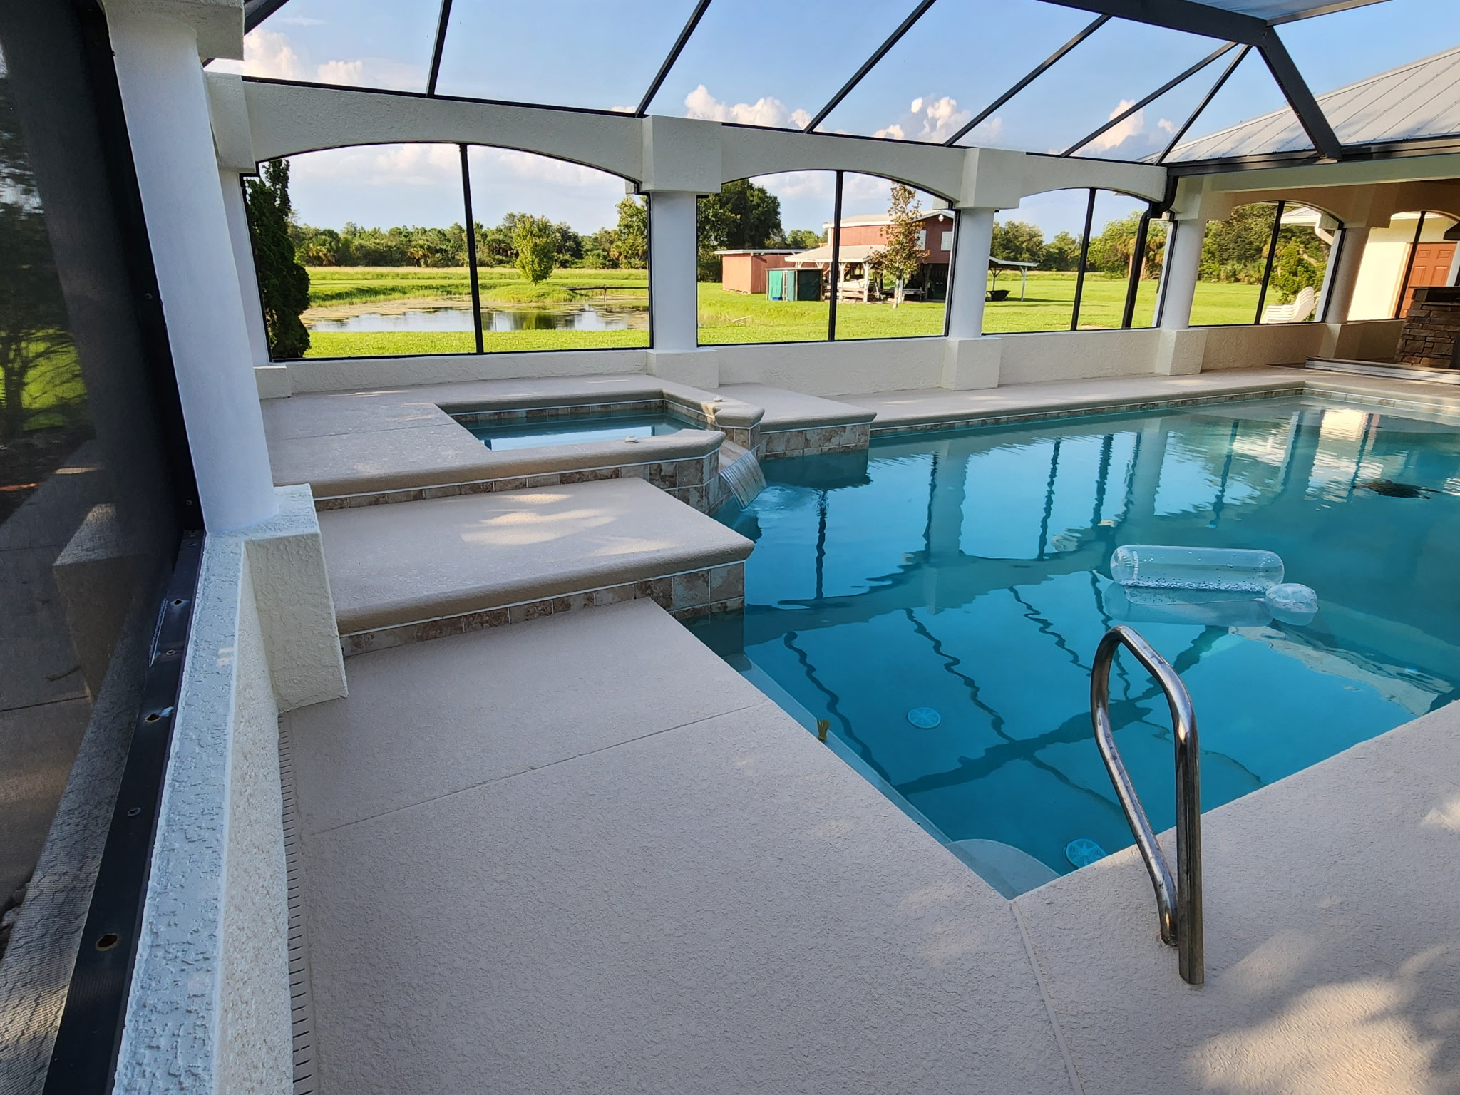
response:
[[[647,602],[283,726],[323,1095],[1072,1091],[1007,902]]]

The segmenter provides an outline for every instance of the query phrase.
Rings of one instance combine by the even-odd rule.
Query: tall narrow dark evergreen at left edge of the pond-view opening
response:
[[[289,238],[289,161],[272,159],[260,178],[248,180],[247,204],[269,352],[274,358],[302,358],[310,349],[310,331],[299,320],[310,307],[310,274],[299,266]]]

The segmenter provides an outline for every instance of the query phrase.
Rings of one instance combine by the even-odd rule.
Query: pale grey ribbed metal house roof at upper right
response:
[[[1318,96],[1345,145],[1460,133],[1460,47]],[[1178,145],[1167,164],[1299,152],[1313,147],[1289,110]]]

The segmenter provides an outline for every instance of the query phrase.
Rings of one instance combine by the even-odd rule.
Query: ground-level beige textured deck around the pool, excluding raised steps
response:
[[[1460,410],[1299,369],[842,402],[1286,390]],[[650,600],[349,679],[282,720],[323,1095],[1460,1092],[1457,705],[1203,816],[1191,988],[1133,848],[1006,901]]]

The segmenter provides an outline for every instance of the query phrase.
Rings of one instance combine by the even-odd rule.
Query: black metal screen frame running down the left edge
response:
[[[47,229],[63,286],[67,277],[79,286],[76,295],[66,288],[70,324],[92,330],[99,318],[110,324],[110,353],[89,358],[88,347],[96,345],[88,343],[79,345],[79,356],[91,420],[108,422],[93,444],[111,473],[111,495],[118,511],[134,515],[128,536],[136,540],[136,626],[124,629],[112,650],[89,731],[124,746],[126,765],[115,803],[105,803],[111,821],[89,905],[83,905],[85,926],[48,926],[57,939],[80,927],[80,937],[74,964],[60,965],[70,964],[72,955],[57,952],[50,971],[69,974],[69,986],[45,1092],[104,1095],[112,1088],[140,936],[203,517],[102,6],[99,0],[29,0],[4,9],[0,29],[6,48],[15,47],[9,77],[25,82],[32,110],[35,101],[47,108],[48,124],[25,133],[26,152],[48,162],[47,178],[36,171]],[[23,63],[16,63],[20,57]],[[55,124],[57,117],[64,124]],[[79,261],[74,250],[58,250],[57,239],[82,231],[89,247]],[[111,432],[118,413],[128,416],[120,435]],[[114,463],[118,445],[131,450],[134,464]],[[139,495],[140,489],[149,493]],[[133,650],[136,658],[127,653]],[[45,991],[53,990],[47,984]]]

